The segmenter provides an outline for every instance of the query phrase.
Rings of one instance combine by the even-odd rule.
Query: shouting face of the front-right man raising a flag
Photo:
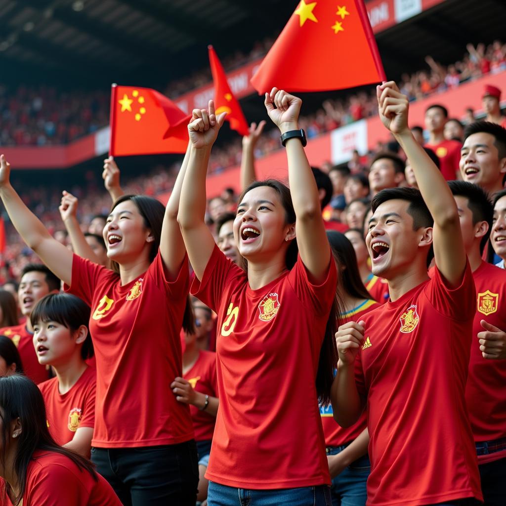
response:
[[[365,238],[372,263],[372,273],[385,279],[393,279],[405,273],[415,264],[418,255],[426,254],[432,242],[432,229],[421,227],[413,230],[413,218],[407,209],[409,202],[401,199],[387,200],[380,204],[368,224]],[[431,240],[426,231],[431,230]],[[426,246],[422,250],[420,246]]]

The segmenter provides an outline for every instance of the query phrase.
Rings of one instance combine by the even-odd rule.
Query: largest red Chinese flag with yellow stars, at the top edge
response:
[[[251,78],[260,93],[341,90],[386,80],[363,0],[301,0]]]

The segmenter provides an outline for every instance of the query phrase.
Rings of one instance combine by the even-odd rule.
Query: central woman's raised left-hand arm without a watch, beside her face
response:
[[[202,280],[205,266],[213,254],[215,240],[204,222],[206,195],[205,176],[211,147],[225,121],[225,113],[215,115],[215,105],[209,100],[209,109],[194,109],[188,125],[190,157],[181,188],[178,222],[183,234],[191,266]]]

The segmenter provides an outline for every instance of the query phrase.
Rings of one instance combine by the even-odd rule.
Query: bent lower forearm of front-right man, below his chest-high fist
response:
[[[355,383],[354,364],[338,363],[338,372],[330,390],[330,401],[334,420],[341,427],[351,427],[356,423],[363,406]]]

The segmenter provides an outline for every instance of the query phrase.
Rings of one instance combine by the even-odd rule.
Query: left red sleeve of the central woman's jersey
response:
[[[244,281],[246,273],[227,259],[215,244],[213,253],[205,266],[202,279],[193,280],[190,293],[209,306],[215,313],[218,312],[220,301],[225,288],[229,284]]]

